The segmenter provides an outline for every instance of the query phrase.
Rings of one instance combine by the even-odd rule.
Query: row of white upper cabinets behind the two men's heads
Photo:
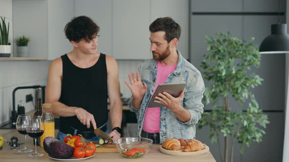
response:
[[[177,49],[189,59],[189,14],[189,0],[13,0],[13,38],[31,39],[29,57],[53,60],[72,50],[66,23],[85,15],[100,27],[99,52],[117,60],[144,60],[152,58],[150,23],[169,16],[182,27]]]

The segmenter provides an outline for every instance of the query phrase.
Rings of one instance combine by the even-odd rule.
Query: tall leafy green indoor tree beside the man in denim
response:
[[[201,63],[204,79],[212,83],[204,92],[204,102],[213,103],[212,111],[203,114],[198,128],[209,126],[211,142],[219,145],[220,161],[228,162],[230,149],[233,162],[234,141],[241,143],[242,153],[243,144],[249,147],[251,141],[262,141],[263,128],[269,123],[267,115],[259,109],[254,94],[250,92],[251,88],[261,85],[263,79],[247,73],[251,67],[260,65],[261,55],[252,43],[254,38],[241,41],[229,32],[216,35],[215,39],[206,36],[209,54]],[[229,96],[240,103],[234,111],[229,107]],[[220,136],[224,137],[223,149]]]

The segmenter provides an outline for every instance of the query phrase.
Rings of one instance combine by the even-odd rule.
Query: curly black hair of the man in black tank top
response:
[[[64,32],[69,41],[91,41],[96,38],[99,26],[87,16],[74,17],[65,25]]]

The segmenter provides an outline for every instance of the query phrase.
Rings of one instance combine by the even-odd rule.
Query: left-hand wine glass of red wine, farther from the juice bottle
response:
[[[26,127],[28,125],[29,117],[30,116],[27,116],[27,115],[19,115],[16,121],[17,131],[20,134],[24,135],[24,148],[21,150],[18,150],[19,152],[31,152],[32,151],[32,149],[26,147],[26,134],[27,134]]]

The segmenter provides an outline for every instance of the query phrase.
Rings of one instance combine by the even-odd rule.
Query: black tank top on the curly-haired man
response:
[[[59,101],[87,110],[94,115],[96,126],[100,127],[108,120],[105,54],[100,54],[98,61],[88,68],[75,66],[67,54],[61,56],[61,59],[63,73]],[[66,132],[67,127],[79,131],[93,131],[92,124],[88,129],[76,116],[60,117],[59,130]]]

